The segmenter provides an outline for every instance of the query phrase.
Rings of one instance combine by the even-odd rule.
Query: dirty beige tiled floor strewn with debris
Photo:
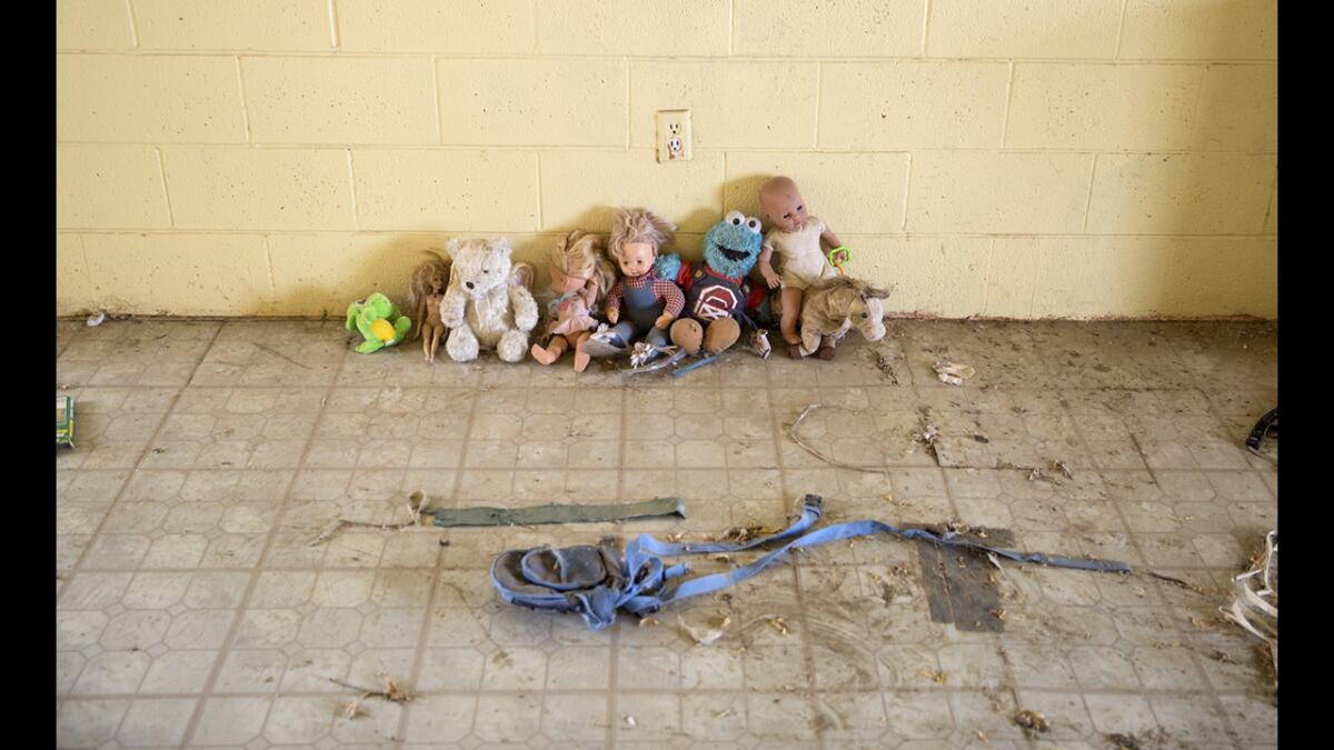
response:
[[[1217,615],[1275,523],[1275,464],[1241,448],[1277,400],[1271,326],[895,322],[834,363],[738,351],[680,379],[359,355],[338,322],[63,322],[57,340],[79,414],[56,459],[61,747],[1277,743],[1267,666]],[[936,359],[976,376],[942,384]],[[887,468],[798,447],[811,403],[812,444]],[[690,519],[311,546],[339,516],[403,520],[418,488],[438,506],[680,495]],[[1002,619],[956,627],[931,619],[918,543],[871,538],[591,633],[487,578],[504,548],[776,526],[804,492],[827,518],[958,519],[1198,591],[1005,565]],[[724,615],[710,646],[680,625]],[[415,698],[340,715],[355,691],[331,679],[386,677]],[[1026,738],[1018,709],[1050,729]]]

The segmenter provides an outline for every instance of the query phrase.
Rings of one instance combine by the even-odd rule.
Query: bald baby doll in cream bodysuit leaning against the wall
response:
[[[806,202],[791,177],[771,177],[759,187],[759,204],[772,228],[764,235],[764,250],[759,255],[759,272],[768,288],[782,287],[783,316],[779,327],[787,350],[794,358],[800,356],[802,336],[798,320],[802,319],[802,296],[806,288],[822,280],[838,276],[838,271],[820,247],[842,248],[838,236],[824,222],[806,211]],[[778,254],[779,270],[775,272],[771,262]],[[847,260],[847,250],[839,250],[835,263]]]

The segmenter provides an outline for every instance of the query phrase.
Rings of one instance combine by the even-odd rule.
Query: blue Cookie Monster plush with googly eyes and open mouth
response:
[[[691,270],[678,255],[659,256],[654,272],[686,291],[686,308],[672,323],[671,340],[691,355],[718,354],[742,335],[740,323],[764,299],[764,284],[747,276],[755,268],[763,238],[759,219],[730,211],[704,235],[704,262]]]

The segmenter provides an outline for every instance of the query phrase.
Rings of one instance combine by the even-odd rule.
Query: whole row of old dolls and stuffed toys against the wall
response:
[[[759,219],[732,211],[704,235],[699,264],[662,252],[676,227],[644,208],[616,210],[610,236],[575,230],[551,251],[544,314],[530,291],[534,267],[512,262],[506,238],[451,240],[444,255],[426,251],[412,272],[416,338],[427,362],[444,339],[455,362],[492,350],[504,362],[532,356],[554,364],[572,351],[576,372],[592,358],[628,355],[643,367],[662,355],[718,355],[743,327],[751,347],[768,356],[766,326],[775,322],[794,358],[831,359],[852,328],[872,342],[883,338],[887,292],[843,274],[847,248],[807,215],[795,183],[766,181],[760,206],[768,235]],[[760,278],[752,279],[756,267]],[[380,294],[348,308],[347,328],[366,339],[360,352],[398,344],[411,327]]]

